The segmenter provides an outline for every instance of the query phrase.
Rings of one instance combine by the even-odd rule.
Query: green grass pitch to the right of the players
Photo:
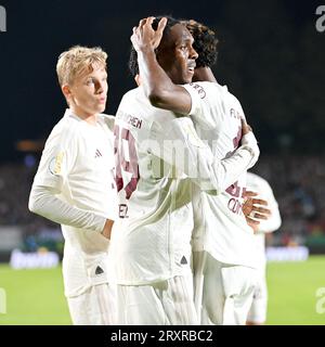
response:
[[[322,304],[316,296],[318,288],[325,288],[325,256],[302,262],[270,262],[268,287],[268,324],[325,325],[325,300],[323,297]],[[317,306],[324,313],[317,313]]]

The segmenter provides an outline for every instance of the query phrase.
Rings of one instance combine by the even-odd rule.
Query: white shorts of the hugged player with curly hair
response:
[[[195,307],[204,325],[244,325],[257,281],[252,268],[193,253]]]

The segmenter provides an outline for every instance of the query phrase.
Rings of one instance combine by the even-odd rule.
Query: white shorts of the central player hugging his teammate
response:
[[[148,285],[117,285],[121,325],[193,325],[193,277],[177,275]]]

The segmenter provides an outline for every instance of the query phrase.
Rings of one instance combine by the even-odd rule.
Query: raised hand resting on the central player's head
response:
[[[152,26],[155,17],[143,18],[139,22],[138,27],[133,27],[131,42],[135,51],[139,52],[147,48],[155,50],[159,46],[167,18],[162,17],[159,21],[157,30],[154,30]]]

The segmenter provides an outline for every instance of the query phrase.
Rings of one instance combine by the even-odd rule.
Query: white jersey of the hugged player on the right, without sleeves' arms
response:
[[[212,82],[184,86],[192,97],[192,118],[200,139],[206,140],[216,158],[227,157],[242,138],[238,100],[226,87]],[[213,97],[211,97],[213,95]],[[214,98],[210,103],[209,98]],[[194,250],[206,250],[224,264],[256,267],[253,232],[242,211],[246,172],[219,195],[200,194],[195,208],[200,228],[193,236]]]

